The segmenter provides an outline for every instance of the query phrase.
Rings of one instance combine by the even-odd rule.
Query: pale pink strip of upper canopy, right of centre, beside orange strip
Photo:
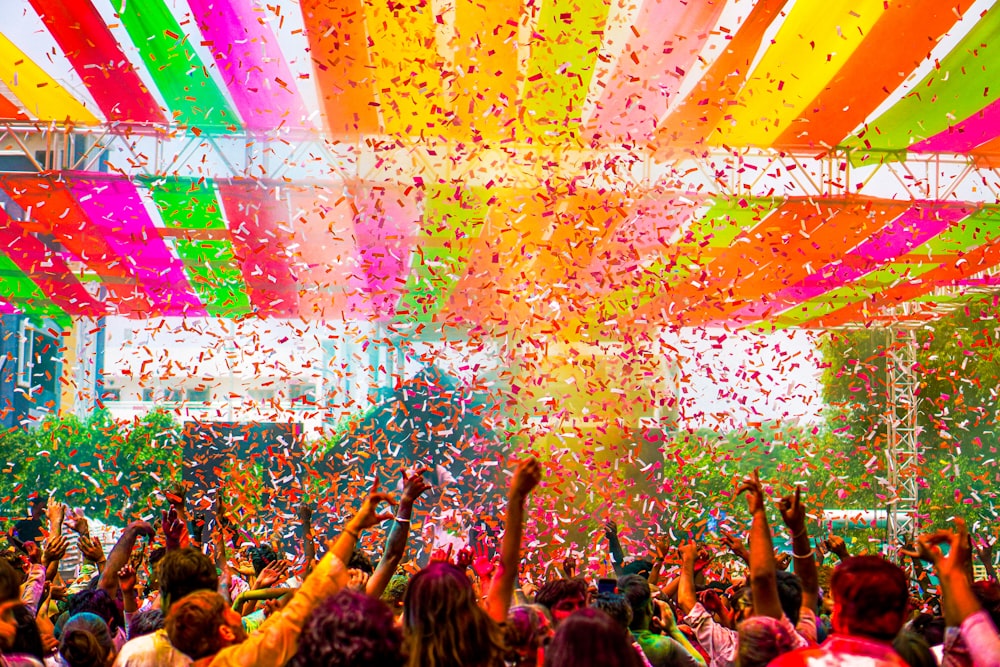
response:
[[[633,23],[632,39],[613,71],[598,71],[605,85],[587,124],[589,135],[649,138],[725,4],[718,0],[645,0]]]

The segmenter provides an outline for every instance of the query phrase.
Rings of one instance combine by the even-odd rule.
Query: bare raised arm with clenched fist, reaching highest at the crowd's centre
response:
[[[514,472],[507,493],[507,516],[504,520],[503,542],[500,546],[500,566],[490,582],[486,595],[486,611],[497,623],[507,620],[517,569],[521,560],[521,534],[524,531],[524,503],[542,479],[542,466],[537,459],[522,461]]]

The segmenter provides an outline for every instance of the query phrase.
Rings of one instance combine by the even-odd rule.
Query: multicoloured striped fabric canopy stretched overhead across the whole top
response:
[[[262,161],[231,177],[113,156],[87,167],[98,171],[2,175],[20,209],[0,218],[5,311],[589,337],[844,325],[904,303],[919,316],[995,284],[990,195],[723,197],[632,175],[748,147],[855,165],[988,161],[1000,152],[993,2],[458,0],[436,14],[424,1],[22,1],[77,78],[32,60],[30,36],[0,34],[0,131],[310,137],[354,161],[343,173],[309,153],[330,161],[328,182]],[[309,76],[292,66],[306,48]],[[440,162],[386,176],[381,146]],[[567,176],[567,150],[595,157]]]

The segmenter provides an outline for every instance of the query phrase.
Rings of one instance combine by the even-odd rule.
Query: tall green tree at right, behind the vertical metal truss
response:
[[[977,529],[977,523],[995,521],[997,314],[997,305],[984,300],[915,331],[921,518],[926,523],[963,515]],[[841,410],[853,449],[848,460],[871,462],[864,470],[852,470],[853,483],[876,490],[883,503],[885,415],[892,400],[887,351],[904,343],[899,335],[874,328],[838,332],[823,346],[824,399]]]

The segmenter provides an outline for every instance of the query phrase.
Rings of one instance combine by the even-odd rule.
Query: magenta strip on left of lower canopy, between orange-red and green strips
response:
[[[127,178],[89,172],[65,172],[70,190],[90,224],[133,272],[161,315],[205,315],[184,273],[184,264],[164,243]]]

